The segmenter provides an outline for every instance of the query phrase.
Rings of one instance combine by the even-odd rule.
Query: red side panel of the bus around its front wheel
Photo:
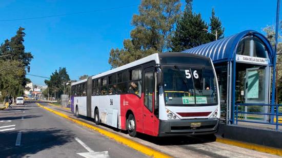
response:
[[[154,108],[153,108],[154,109]],[[144,94],[141,98],[134,94],[120,95],[120,125],[121,129],[126,130],[127,113],[132,112],[135,117],[136,131],[153,136],[158,135],[159,120],[144,105]]]

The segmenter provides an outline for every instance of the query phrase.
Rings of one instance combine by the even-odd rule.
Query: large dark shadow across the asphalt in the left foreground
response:
[[[21,146],[15,146],[17,132],[0,134],[0,157],[24,157],[73,141],[73,134],[56,128],[22,132]],[[47,157],[51,155],[46,155]]]

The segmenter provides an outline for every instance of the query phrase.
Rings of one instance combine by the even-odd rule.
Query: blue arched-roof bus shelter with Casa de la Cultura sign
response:
[[[275,53],[263,34],[246,30],[184,52],[211,57],[218,78],[221,123],[273,123],[275,106],[270,103]]]

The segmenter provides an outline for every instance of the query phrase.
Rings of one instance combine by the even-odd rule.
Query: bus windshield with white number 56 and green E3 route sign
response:
[[[216,79],[209,66],[164,67],[166,105],[216,105]]]

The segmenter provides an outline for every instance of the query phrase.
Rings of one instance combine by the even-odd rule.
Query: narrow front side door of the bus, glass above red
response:
[[[154,67],[144,69],[143,129],[154,135]]]

